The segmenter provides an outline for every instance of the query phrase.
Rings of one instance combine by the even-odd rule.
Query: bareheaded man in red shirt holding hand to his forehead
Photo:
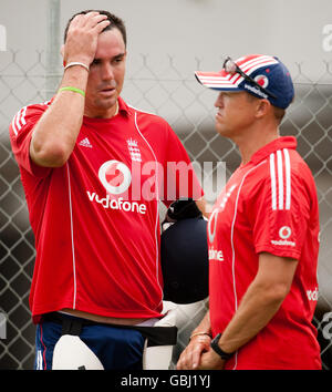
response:
[[[158,202],[168,206],[169,194],[204,208],[201,188],[170,126],[120,97],[121,19],[106,11],[74,16],[62,54],[56,95],[23,107],[10,125],[35,235],[30,306],[39,323],[37,368],[52,368],[61,336],[54,312],[61,311],[103,324],[97,333],[84,327],[81,338],[105,369],[139,369],[142,336],[104,326],[153,324],[163,316]],[[188,184],[179,186],[168,162],[187,164]]]

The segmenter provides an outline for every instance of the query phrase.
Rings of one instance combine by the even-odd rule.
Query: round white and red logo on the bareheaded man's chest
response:
[[[115,159],[107,161],[100,167],[98,177],[105,189],[112,195],[123,194],[132,183],[129,168]]]

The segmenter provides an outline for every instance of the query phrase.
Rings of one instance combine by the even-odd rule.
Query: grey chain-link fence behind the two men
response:
[[[21,52],[1,53],[0,62],[0,369],[32,369],[34,326],[29,291],[34,264],[34,237],[29,224],[19,169],[11,153],[8,126],[15,112],[29,103],[50,99],[46,79],[60,80],[61,71],[46,75],[44,53],[35,52],[28,64]],[[201,87],[193,76],[201,62],[196,59],[183,74],[176,59],[141,55],[128,70],[123,97],[135,107],[165,117],[176,131],[190,158],[226,162],[227,176],[240,163],[235,145],[221,138],[214,126],[216,93]],[[160,63],[163,66],[160,66]],[[158,64],[158,65],[156,65]],[[320,80],[309,80],[301,64],[294,64],[297,97],[281,125],[281,134],[298,137],[299,152],[311,167],[321,216],[319,301],[314,324],[319,330],[323,369],[332,369],[332,84],[331,64]],[[328,82],[326,82],[328,81]],[[211,175],[210,186],[216,178]],[[209,189],[205,189],[207,193]],[[214,189],[216,194],[220,189]],[[210,203],[214,200],[210,199]],[[178,344],[174,363],[188,342],[191,330],[208,309],[208,301],[178,307]]]

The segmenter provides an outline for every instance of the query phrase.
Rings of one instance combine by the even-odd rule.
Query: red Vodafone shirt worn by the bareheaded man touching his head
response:
[[[179,186],[175,171],[167,173],[168,162],[190,165],[170,126],[118,103],[115,117],[84,116],[74,151],[59,168],[38,166],[29,155],[33,126],[52,101],[23,107],[10,125],[35,236],[35,321],[63,308],[160,317],[158,200],[168,206],[175,197],[197,199],[203,193],[193,172],[190,186]]]

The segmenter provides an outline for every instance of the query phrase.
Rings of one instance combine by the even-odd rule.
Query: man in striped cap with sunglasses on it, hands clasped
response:
[[[216,128],[242,162],[209,218],[210,307],[177,368],[321,369],[315,184],[295,138],[278,130],[290,73],[277,58],[248,55],[196,78],[219,91]]]

